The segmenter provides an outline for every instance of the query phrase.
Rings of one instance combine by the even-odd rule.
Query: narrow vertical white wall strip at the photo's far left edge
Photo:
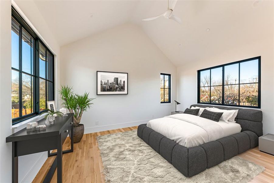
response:
[[[11,182],[11,2],[0,1],[0,182]],[[10,96],[10,97],[9,97]]]

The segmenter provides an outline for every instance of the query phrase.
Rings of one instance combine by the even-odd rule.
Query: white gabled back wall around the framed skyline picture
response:
[[[85,133],[146,123],[175,109],[174,102],[160,105],[160,73],[172,75],[174,101],[176,68],[136,25],[114,27],[62,46],[61,55],[61,83],[96,97],[82,117]],[[97,70],[128,73],[128,95],[96,95]]]

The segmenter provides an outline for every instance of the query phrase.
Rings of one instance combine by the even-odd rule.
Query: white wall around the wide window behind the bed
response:
[[[271,17],[270,17],[271,18]],[[269,24],[272,29],[273,24]],[[197,70],[261,56],[261,110],[263,113],[263,133],[274,133],[273,98],[273,34],[261,35],[258,41],[232,49],[212,53],[212,57],[197,60],[177,68],[177,99],[182,102],[180,110],[197,103]],[[248,68],[247,68],[248,69]]]

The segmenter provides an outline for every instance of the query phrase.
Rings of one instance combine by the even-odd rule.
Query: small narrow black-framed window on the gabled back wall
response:
[[[161,103],[171,102],[171,75],[161,73]]]

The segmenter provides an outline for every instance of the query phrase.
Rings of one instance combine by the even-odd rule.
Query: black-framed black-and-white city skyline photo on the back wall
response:
[[[128,94],[128,73],[97,71],[97,95]]]

